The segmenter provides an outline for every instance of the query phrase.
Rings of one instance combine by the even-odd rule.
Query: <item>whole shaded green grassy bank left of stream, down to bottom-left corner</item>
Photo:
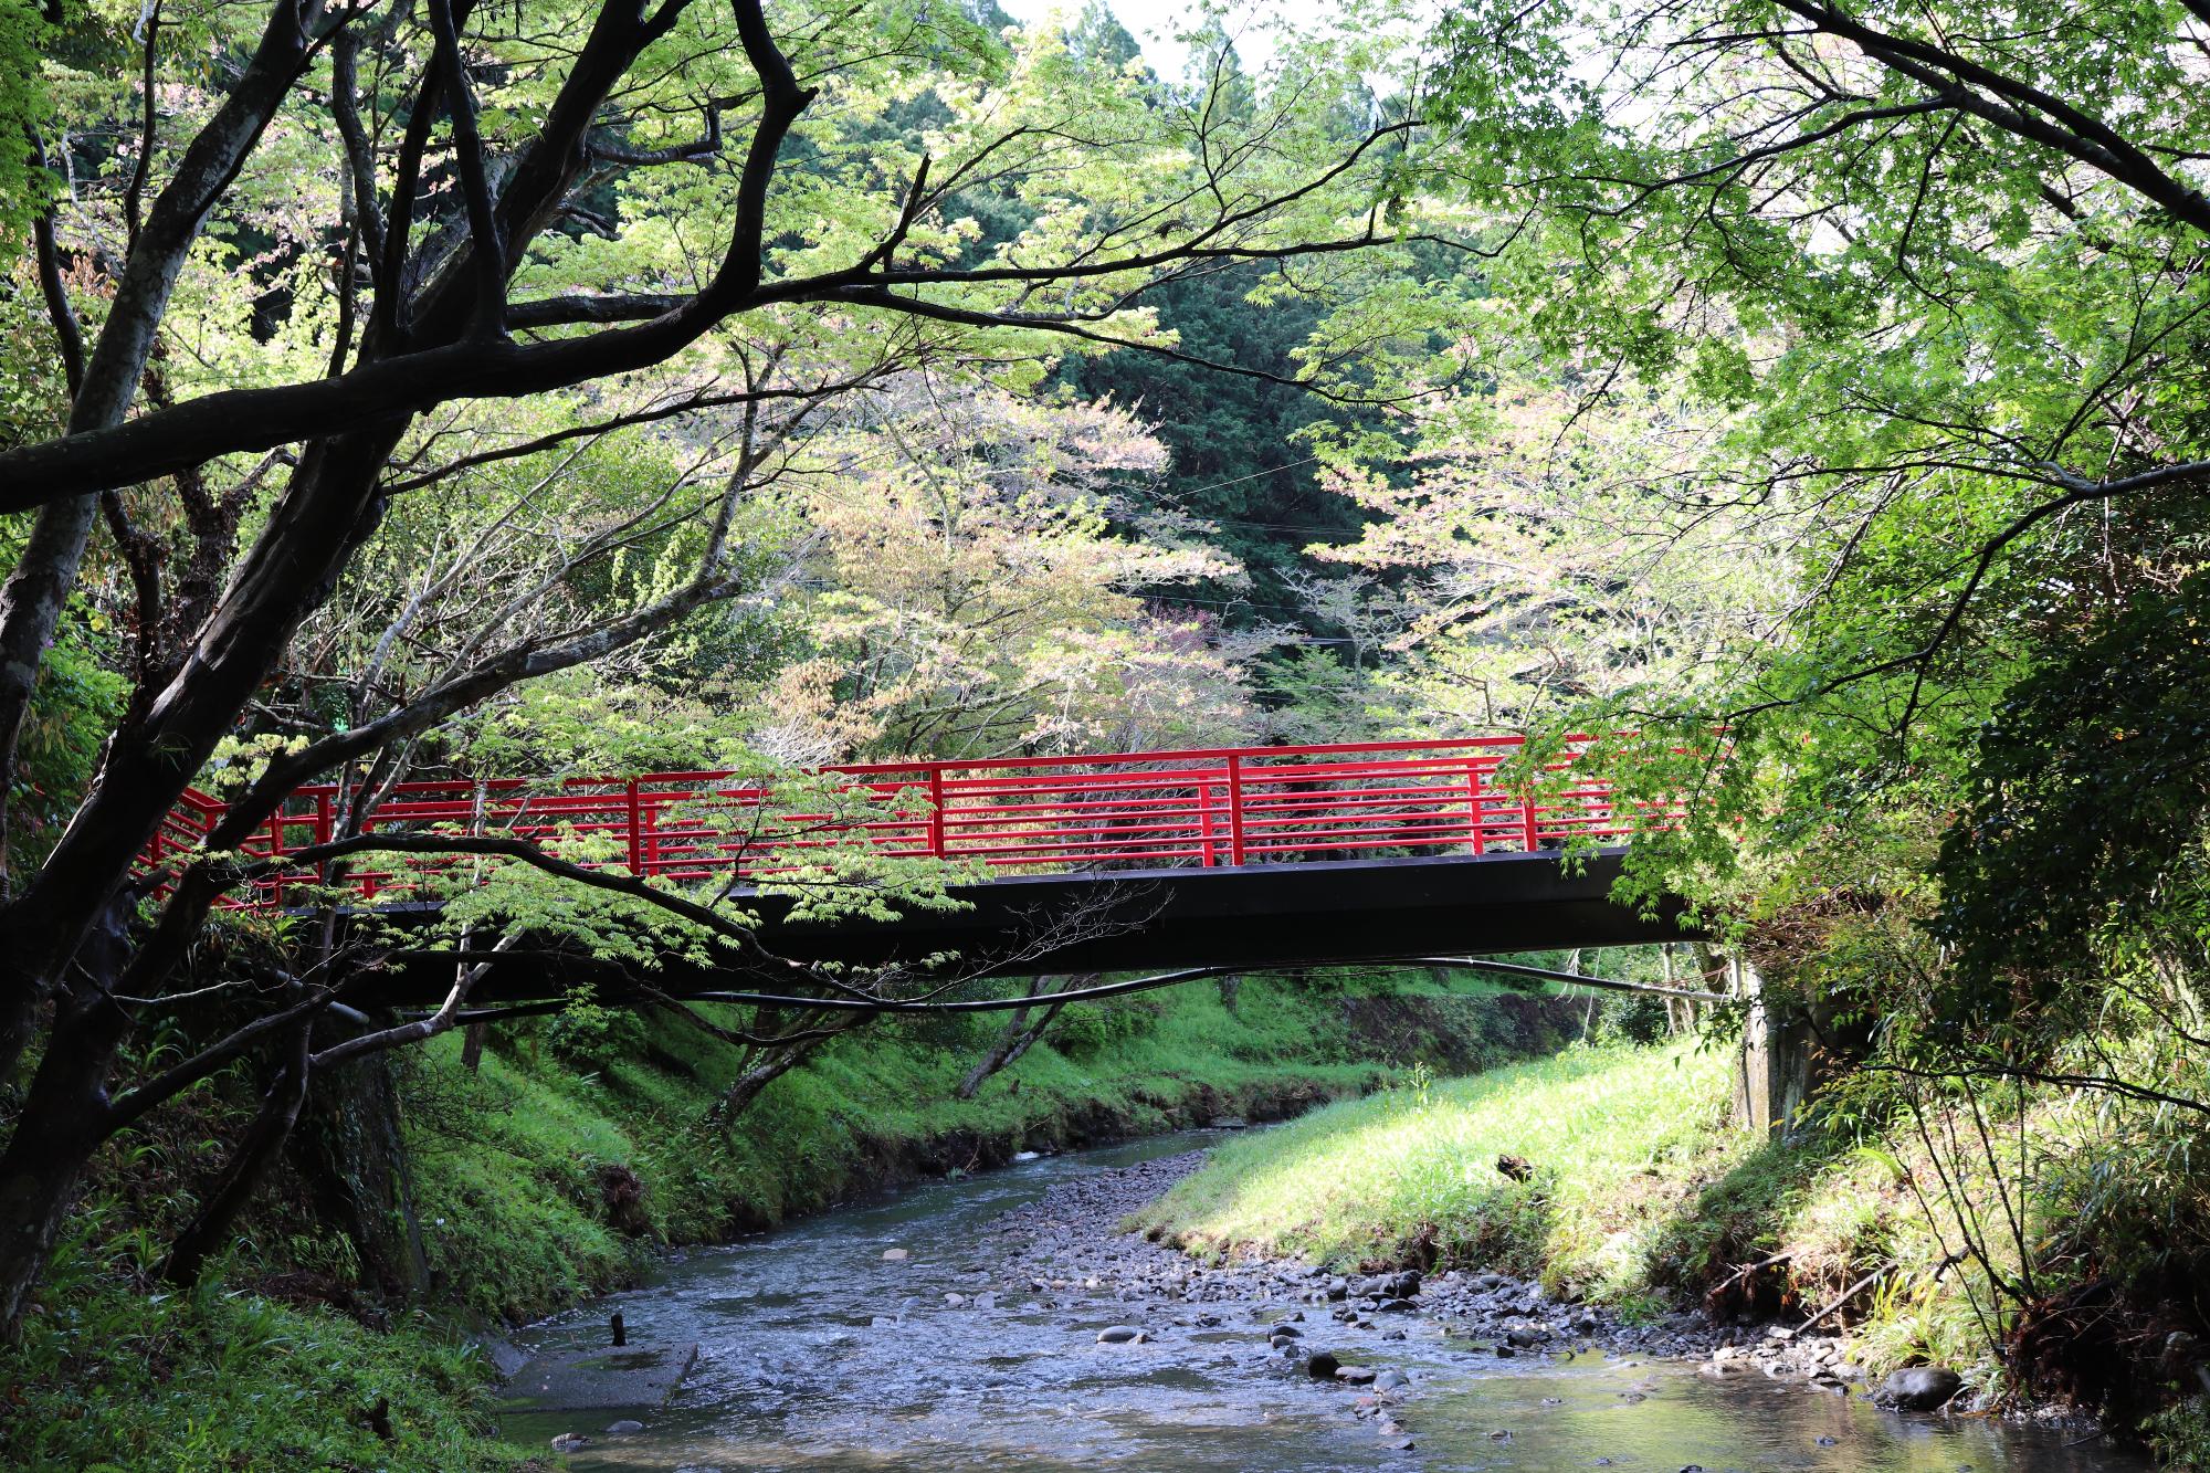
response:
[[[427,1296],[362,1309],[349,1243],[314,1225],[292,1181],[265,1192],[217,1283],[155,1294],[177,1183],[217,1135],[188,1115],[102,1163],[24,1345],[0,1351],[0,1466],[508,1466],[469,1336],[619,1285],[661,1245],[1017,1150],[1286,1112],[1414,1064],[1478,1068],[1558,1046],[1569,1011],[1401,973],[1253,978],[1233,1006],[1189,986],[1070,1011],[972,1099],[955,1090],[994,1022],[884,1026],[831,1044],[729,1126],[709,1108],[745,1057],[698,1028],[588,1013],[504,1026],[475,1070],[440,1040],[398,1073]],[[201,1126],[243,1108],[236,1084],[228,1104],[199,1101]]]

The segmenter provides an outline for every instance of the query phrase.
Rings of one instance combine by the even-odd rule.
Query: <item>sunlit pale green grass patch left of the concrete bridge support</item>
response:
[[[1463,1263],[1622,1296],[1673,1210],[1737,1150],[1728,1068],[1693,1046],[1574,1048],[1388,1090],[1220,1148],[1138,1214],[1204,1252]],[[1518,1183],[1503,1155],[1534,1166]]]

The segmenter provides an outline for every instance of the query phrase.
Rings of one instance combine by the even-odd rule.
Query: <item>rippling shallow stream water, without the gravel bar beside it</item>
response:
[[[1032,1216],[1052,1188],[1081,1188],[1202,1139],[1028,1161],[674,1256],[648,1285],[522,1336],[530,1351],[603,1347],[608,1314],[621,1309],[632,1345],[696,1343],[698,1360],[670,1404],[517,1409],[506,1433],[537,1449],[555,1433],[586,1433],[590,1442],[570,1453],[575,1469],[667,1473],[2146,1469],[2080,1433],[1896,1415],[1755,1373],[1711,1380],[1684,1362],[1618,1354],[1501,1360],[1423,1314],[1357,1331],[1282,1296],[1162,1303],[1136,1289],[1120,1298],[1109,1281],[1090,1292],[1081,1278],[1034,1287],[1034,1243],[1006,1232],[1008,1212]],[[908,1256],[884,1261],[886,1250]],[[1412,1378],[1388,1409],[1403,1435],[1377,1431],[1370,1407],[1357,1415],[1353,1389],[1313,1382],[1266,1351],[1262,1325],[1299,1309],[1308,1345]],[[1107,1325],[1140,1325],[1154,1338],[1101,1345]],[[606,1435],[617,1418],[645,1431]],[[1390,1446],[1401,1440],[1412,1446]]]

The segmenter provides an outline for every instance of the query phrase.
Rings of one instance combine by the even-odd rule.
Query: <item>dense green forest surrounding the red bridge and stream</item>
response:
[[[1611,1292],[1693,1298],[1850,1161],[1901,1205],[1790,1303],[1878,1281],[1887,1360],[2210,1458],[2210,7],[1344,0],[1182,53],[1105,0],[0,0],[0,1402],[86,1415],[150,1345],[157,1407],[290,1285],[418,1387],[404,1466],[462,1466],[480,1369],[407,1316],[833,1201],[888,1099],[1003,1157],[1198,1110],[1158,1037],[1238,1104],[1412,1064],[1299,1075],[1326,1024],[1264,980],[656,991],[756,958],[762,896],[972,878],[815,767],[1620,732],[1680,812],[1622,898],[1686,900],[1828,1084],[1684,1179],[1737,1236]],[[678,770],[862,838],[736,894],[367,823]],[[157,845],[188,792],[223,818]],[[338,924],[360,874],[442,905]],[[471,997],[515,947],[557,1009]],[[402,960],[442,1004],[380,1000]],[[508,1141],[568,1161],[552,1216],[438,1155],[586,1108]],[[422,1190],[526,1252],[431,1263]],[[13,1453],[146,1435],[104,1415]]]

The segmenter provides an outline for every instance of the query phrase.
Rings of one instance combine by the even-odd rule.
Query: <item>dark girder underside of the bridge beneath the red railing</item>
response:
[[[1680,907],[1655,918],[1611,900],[1618,849],[1567,871],[1556,854],[1381,858],[1242,869],[1105,869],[970,885],[961,911],[897,922],[791,922],[762,902],[760,942],[789,962],[880,967],[959,953],[959,971],[1030,978],[1189,967],[1328,967],[1417,955],[1498,955],[1574,947],[1635,947],[1693,936]],[[420,973],[420,975],[415,975]],[[451,962],[400,967],[378,989],[433,1002]],[[477,997],[544,997],[590,975],[555,958],[502,960]],[[776,964],[670,958],[654,984],[672,995],[776,991]]]

